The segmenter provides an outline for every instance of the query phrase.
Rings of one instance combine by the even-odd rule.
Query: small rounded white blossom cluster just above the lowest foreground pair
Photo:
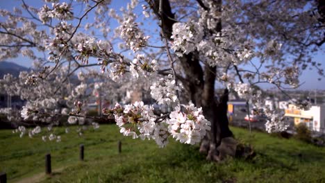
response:
[[[160,78],[158,81],[153,82],[150,89],[151,97],[155,99],[158,104],[170,105],[178,101],[176,90],[180,90],[181,87],[175,85],[172,74],[169,74],[167,77]]]

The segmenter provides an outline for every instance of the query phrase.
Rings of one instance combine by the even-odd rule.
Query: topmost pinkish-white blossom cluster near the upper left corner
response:
[[[60,20],[70,20],[74,18],[71,5],[68,3],[52,3],[52,8],[49,8],[46,4],[40,8],[38,17],[43,22],[47,23],[51,18]]]

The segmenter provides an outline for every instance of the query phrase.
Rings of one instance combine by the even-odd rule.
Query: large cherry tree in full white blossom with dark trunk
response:
[[[38,66],[1,80],[8,93],[28,100],[24,118],[65,113],[76,123],[85,117],[88,88],[102,87],[112,98],[123,89],[144,88],[172,112],[158,116],[152,105],[138,101],[117,103],[103,114],[124,135],[153,139],[160,147],[168,137],[201,143],[211,160],[219,159],[222,139],[233,136],[226,116],[230,92],[261,108],[260,83],[296,88],[309,67],[323,77],[321,63],[313,61],[325,42],[320,0],[132,0],[119,10],[110,0],[44,0],[39,7],[22,0],[21,7],[0,15],[0,60],[23,55]],[[85,71],[89,67],[99,69]],[[79,70],[80,85],[69,84]],[[83,77],[101,82],[88,85]],[[224,87],[222,94],[216,85]],[[56,111],[67,93],[70,112]],[[281,113],[264,111],[268,132],[285,130]],[[60,141],[55,134],[49,139]]]

